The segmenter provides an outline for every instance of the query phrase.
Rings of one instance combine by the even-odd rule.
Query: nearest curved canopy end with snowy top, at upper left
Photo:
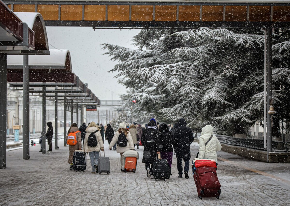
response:
[[[44,20],[40,13],[14,12],[35,33],[35,50],[49,50]]]

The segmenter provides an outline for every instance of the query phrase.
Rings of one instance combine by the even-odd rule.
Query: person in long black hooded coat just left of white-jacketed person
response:
[[[189,127],[186,127],[185,119],[180,119],[177,123],[177,128],[173,134],[173,146],[177,158],[178,177],[182,178],[182,159],[184,160],[184,174],[188,179],[189,159],[190,159],[190,144],[193,142],[193,133]]]

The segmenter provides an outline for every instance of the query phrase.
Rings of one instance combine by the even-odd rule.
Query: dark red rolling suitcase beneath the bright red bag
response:
[[[200,199],[203,197],[220,198],[220,182],[214,167],[196,168],[193,178]]]

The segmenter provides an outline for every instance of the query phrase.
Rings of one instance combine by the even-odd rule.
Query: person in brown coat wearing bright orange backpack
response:
[[[73,153],[75,150],[81,150],[81,132],[76,123],[70,126],[65,141],[69,145],[68,150],[70,151],[68,164],[70,164],[70,170],[73,170]]]

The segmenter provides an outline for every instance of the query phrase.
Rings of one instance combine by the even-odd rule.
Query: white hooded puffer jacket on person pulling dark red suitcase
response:
[[[211,125],[206,125],[201,130],[201,136],[199,138],[200,145],[199,145],[199,154],[198,158],[201,159],[214,159],[215,162],[218,162],[217,158],[217,151],[222,149],[222,145],[220,145],[220,141],[218,138],[213,135],[211,141],[207,143],[206,146],[204,144],[209,140],[211,135],[213,134],[213,127]]]

